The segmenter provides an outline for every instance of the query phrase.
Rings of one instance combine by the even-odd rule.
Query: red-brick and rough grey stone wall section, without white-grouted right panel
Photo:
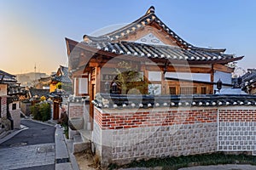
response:
[[[187,156],[217,150],[218,109],[95,108],[93,142],[109,163],[125,164],[135,159]]]

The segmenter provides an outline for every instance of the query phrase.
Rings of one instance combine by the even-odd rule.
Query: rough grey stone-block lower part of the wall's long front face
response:
[[[217,129],[217,122],[211,122],[114,130],[113,161],[212,153]]]

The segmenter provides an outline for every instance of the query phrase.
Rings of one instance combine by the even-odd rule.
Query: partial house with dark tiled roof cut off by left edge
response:
[[[0,136],[20,128],[20,98],[26,95],[16,77],[0,70]]]

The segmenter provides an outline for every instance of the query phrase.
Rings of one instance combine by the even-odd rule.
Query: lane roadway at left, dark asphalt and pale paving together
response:
[[[54,170],[55,127],[21,120],[28,129],[0,144],[0,170]]]

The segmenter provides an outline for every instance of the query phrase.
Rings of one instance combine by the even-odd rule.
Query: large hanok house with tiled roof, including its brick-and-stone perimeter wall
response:
[[[230,65],[243,57],[184,41],[156,16],[154,7],[116,31],[66,42],[74,95],[69,117],[84,119],[103,167],[135,159],[254,150],[252,143],[244,148],[232,142],[235,136],[225,138],[225,129],[253,126],[256,120],[249,117],[255,115],[255,97],[214,94],[232,87]],[[79,105],[87,99],[90,106]],[[236,119],[239,111],[245,113],[242,121]]]

